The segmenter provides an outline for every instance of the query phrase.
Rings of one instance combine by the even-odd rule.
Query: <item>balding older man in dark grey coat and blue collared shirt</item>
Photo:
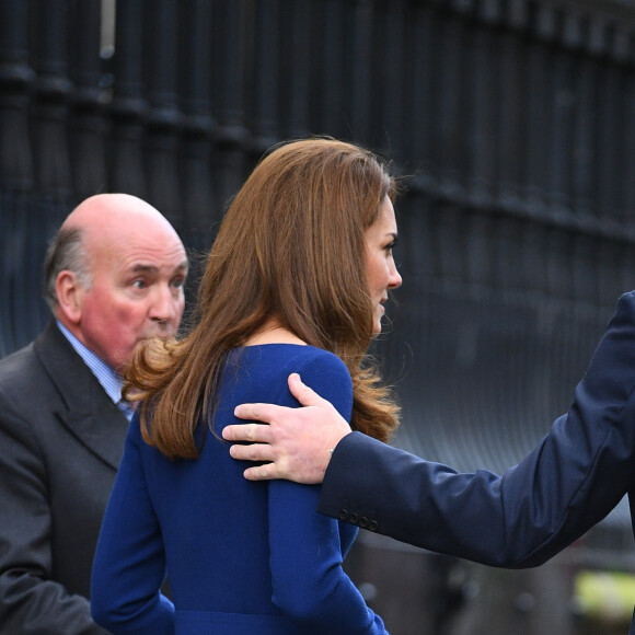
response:
[[[139,198],[79,205],[53,240],[54,319],[0,361],[0,633],[103,634],[90,576],[131,408],[122,372],[148,337],[175,336],[185,249]]]

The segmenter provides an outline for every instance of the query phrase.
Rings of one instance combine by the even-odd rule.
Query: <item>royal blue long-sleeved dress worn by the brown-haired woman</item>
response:
[[[267,344],[229,354],[217,432],[243,423],[240,403],[298,406],[291,372],[350,418],[339,358]],[[136,635],[385,633],[342,569],[357,529],[316,512],[320,486],[249,482],[245,466],[209,429],[198,460],[170,460],[143,442],[134,417],[93,565],[95,621]],[[173,603],[160,593],[166,574]]]

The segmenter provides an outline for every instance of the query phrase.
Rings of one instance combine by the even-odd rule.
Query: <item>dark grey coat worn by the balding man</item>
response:
[[[51,322],[0,360],[0,634],[103,634],[90,616],[128,422]]]

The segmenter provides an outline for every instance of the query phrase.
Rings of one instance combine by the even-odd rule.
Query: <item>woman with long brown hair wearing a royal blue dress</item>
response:
[[[401,285],[394,196],[369,151],[308,139],[274,149],[233,199],[192,332],[148,342],[126,373],[140,407],[92,581],[113,633],[385,632],[342,569],[356,529],[315,512],[315,486],[246,482],[220,432],[239,403],[298,405],[300,372],[354,429],[389,438],[399,408],[367,348]]]

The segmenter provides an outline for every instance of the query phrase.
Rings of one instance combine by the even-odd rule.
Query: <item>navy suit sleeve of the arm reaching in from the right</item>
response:
[[[354,432],[337,446],[319,510],[356,511],[380,533],[506,567],[542,564],[604,518],[635,476],[635,295],[534,450],[503,475],[459,474]]]

